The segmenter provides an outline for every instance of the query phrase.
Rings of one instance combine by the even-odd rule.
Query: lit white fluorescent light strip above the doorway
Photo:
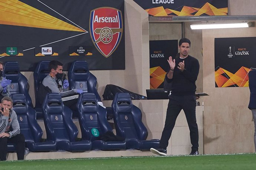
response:
[[[249,27],[248,23],[235,23],[235,24],[192,24],[191,30],[200,29],[216,29],[216,28],[246,28]]]

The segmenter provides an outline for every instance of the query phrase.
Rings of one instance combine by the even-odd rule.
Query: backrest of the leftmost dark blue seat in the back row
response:
[[[33,108],[32,100],[29,95],[29,82],[27,78],[20,73],[18,62],[6,62],[4,64],[3,77],[12,80],[11,84],[9,85],[10,93],[24,94],[24,96],[26,97],[27,105]]]

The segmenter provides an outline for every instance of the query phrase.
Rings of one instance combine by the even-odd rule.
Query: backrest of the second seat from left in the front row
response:
[[[78,129],[72,121],[72,111],[63,105],[59,93],[48,93],[42,108],[47,140],[75,142]]]

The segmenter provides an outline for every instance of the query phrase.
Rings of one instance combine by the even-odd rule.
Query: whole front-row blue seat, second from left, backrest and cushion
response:
[[[72,121],[72,111],[63,105],[58,93],[48,93],[42,109],[47,140],[55,141],[57,150],[73,152],[91,149],[89,140],[76,142],[78,129]]]

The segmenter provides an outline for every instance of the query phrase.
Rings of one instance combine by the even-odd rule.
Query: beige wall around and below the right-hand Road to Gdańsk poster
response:
[[[203,30],[204,153],[254,152],[249,88],[215,88],[214,38],[255,37],[256,28]]]

